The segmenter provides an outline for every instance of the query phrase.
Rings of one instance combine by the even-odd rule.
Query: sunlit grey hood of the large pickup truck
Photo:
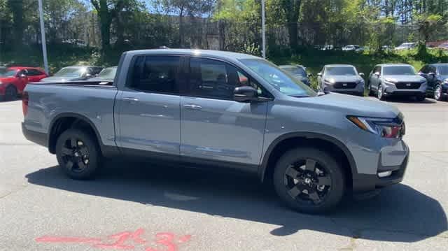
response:
[[[346,115],[394,118],[400,113],[398,108],[383,101],[333,92],[313,98],[299,99],[300,101],[306,101],[314,103],[317,106],[322,106],[323,109],[332,108],[339,111],[345,111]]]

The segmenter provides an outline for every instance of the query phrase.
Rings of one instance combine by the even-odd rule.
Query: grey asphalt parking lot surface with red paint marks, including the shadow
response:
[[[21,102],[0,103],[0,250],[448,250],[448,102],[388,103],[405,115],[405,180],[328,215],[213,166],[113,160],[70,180],[22,136]]]

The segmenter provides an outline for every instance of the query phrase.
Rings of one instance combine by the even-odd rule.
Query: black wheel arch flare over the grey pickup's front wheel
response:
[[[258,168],[258,175],[261,180],[261,182],[265,179],[265,173],[268,168],[269,158],[271,157],[272,153],[274,152],[274,149],[277,145],[282,143],[283,141],[286,141],[291,138],[306,138],[306,139],[318,139],[321,141],[328,141],[330,143],[333,143],[336,145],[342,152],[344,152],[344,155],[346,155],[347,160],[349,161],[350,165],[350,171],[352,177],[358,174],[358,171],[356,169],[356,162],[353,158],[353,155],[351,154],[350,150],[342,143],[342,141],[339,141],[337,138],[334,138],[332,136],[328,136],[326,134],[320,134],[320,133],[314,133],[314,132],[293,132],[293,133],[287,133],[283,134],[279,137],[277,137],[267,148],[265,154],[262,156],[262,162],[260,164],[260,167]]]

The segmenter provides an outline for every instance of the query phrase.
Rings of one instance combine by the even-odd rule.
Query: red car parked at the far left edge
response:
[[[27,83],[39,82],[46,77],[48,75],[40,68],[9,67],[5,73],[0,74],[0,101],[15,99],[18,94],[22,94]]]

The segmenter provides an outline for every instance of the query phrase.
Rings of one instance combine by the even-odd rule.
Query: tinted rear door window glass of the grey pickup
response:
[[[177,56],[140,56],[132,70],[130,87],[143,92],[179,94]]]

